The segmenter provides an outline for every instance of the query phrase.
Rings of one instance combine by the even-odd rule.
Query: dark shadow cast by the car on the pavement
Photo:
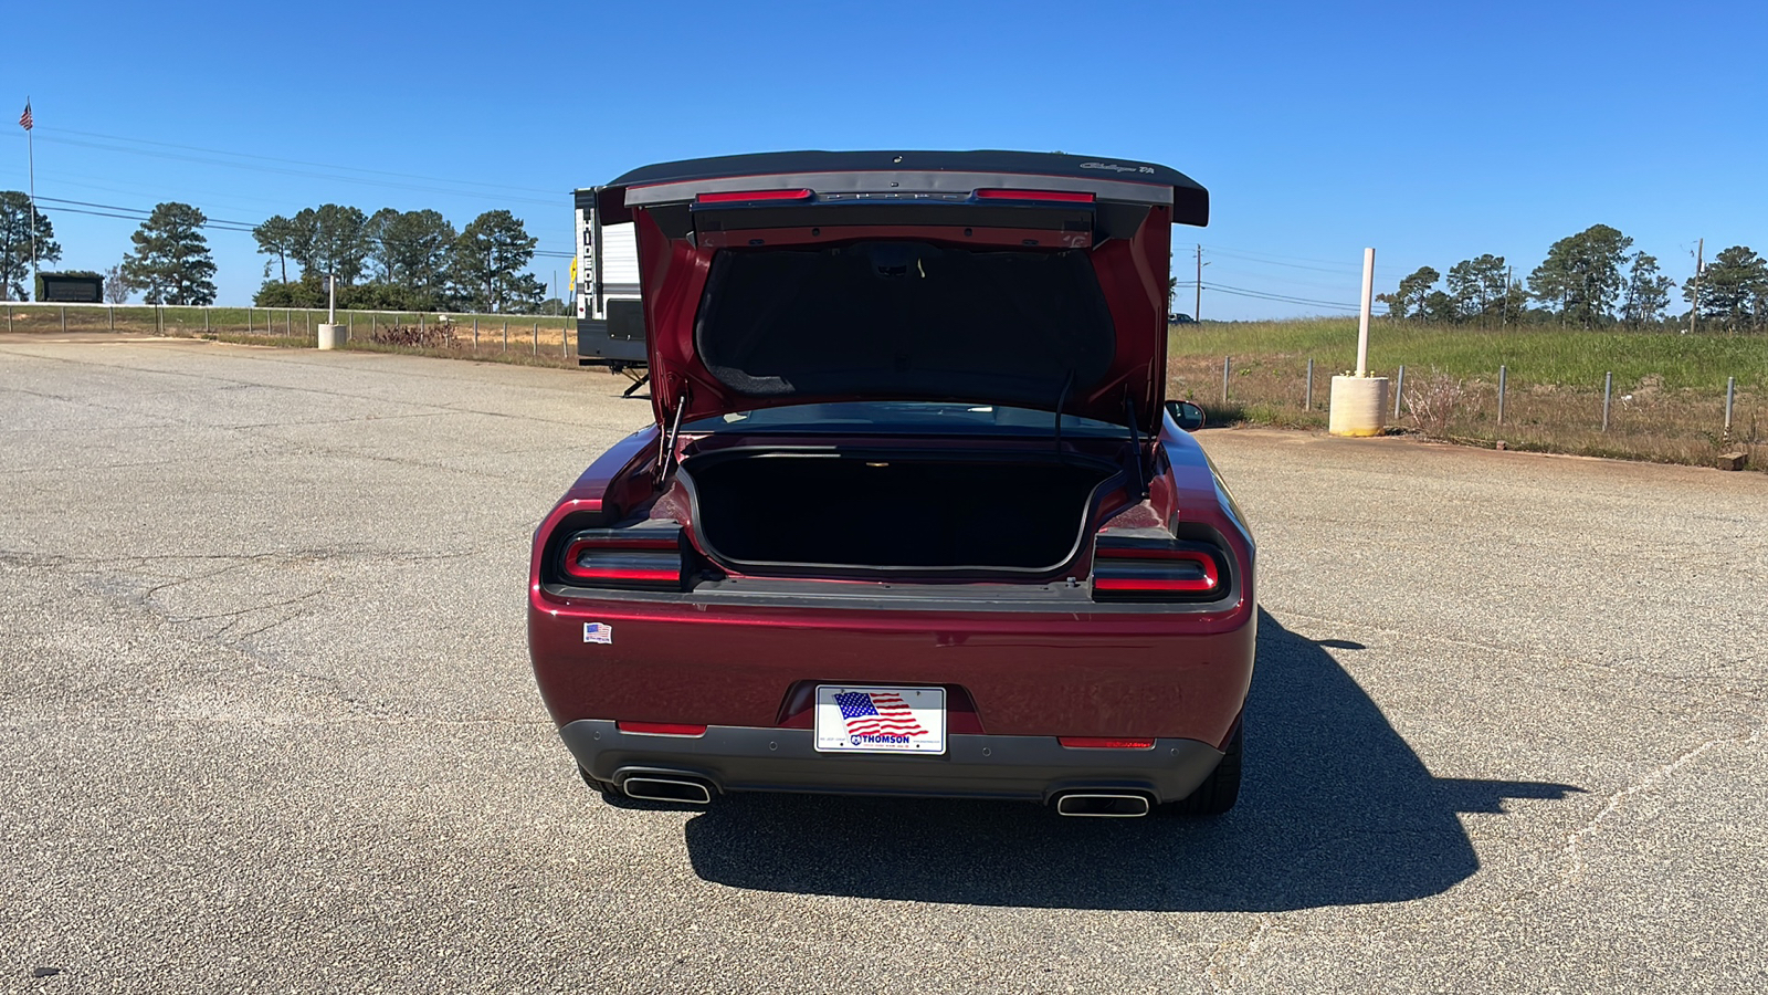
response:
[[[1259,613],[1246,781],[1215,820],[1061,818],[1010,802],[730,795],[686,823],[705,880],[1038,908],[1278,912],[1407,901],[1480,860],[1457,813],[1570,784],[1432,777],[1324,650]]]

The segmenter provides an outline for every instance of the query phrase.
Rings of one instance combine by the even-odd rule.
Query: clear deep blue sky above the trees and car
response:
[[[88,2],[5,21],[0,189],[25,188],[28,94],[44,198],[249,223],[507,207],[562,253],[568,191],[651,161],[1061,149],[1211,189],[1209,228],[1174,237],[1204,244],[1218,319],[1344,313],[1208,287],[1349,306],[1365,244],[1377,289],[1485,251],[1520,274],[1593,223],[1678,280],[1697,237],[1768,250],[1759,2]],[[131,221],[41,207],[62,267],[129,248]],[[249,234],[210,244],[221,301],[244,303],[263,257]]]

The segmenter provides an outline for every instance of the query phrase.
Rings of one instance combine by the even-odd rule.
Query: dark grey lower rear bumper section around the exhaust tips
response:
[[[1155,740],[1155,749],[1068,749],[1055,737],[951,735],[944,756],[889,756],[817,752],[810,729],[711,726],[704,737],[654,737],[578,719],[560,735],[598,781],[675,774],[720,791],[1048,802],[1063,791],[1112,788],[1160,804],[1190,795],[1222,761],[1213,745],[1185,738]]]

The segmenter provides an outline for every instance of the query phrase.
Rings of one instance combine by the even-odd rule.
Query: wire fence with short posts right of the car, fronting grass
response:
[[[1333,372],[1294,356],[1179,356],[1167,395],[1200,404],[1213,423],[1324,428]],[[1768,395],[1738,377],[1717,390],[1671,390],[1653,375],[1568,384],[1512,366],[1473,377],[1407,366],[1370,375],[1388,377],[1395,430],[1506,450],[1768,469]]]

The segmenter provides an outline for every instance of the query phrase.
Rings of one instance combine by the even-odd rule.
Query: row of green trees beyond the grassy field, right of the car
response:
[[[1390,319],[1436,324],[1655,328],[1692,312],[1706,328],[1768,329],[1768,260],[1749,246],[1720,250],[1680,285],[1651,253],[1628,253],[1632,246],[1618,228],[1591,225],[1556,241],[1526,283],[1505,257],[1487,253],[1457,262],[1446,278],[1421,266],[1377,299]],[[1678,289],[1688,312],[1671,313]]]

